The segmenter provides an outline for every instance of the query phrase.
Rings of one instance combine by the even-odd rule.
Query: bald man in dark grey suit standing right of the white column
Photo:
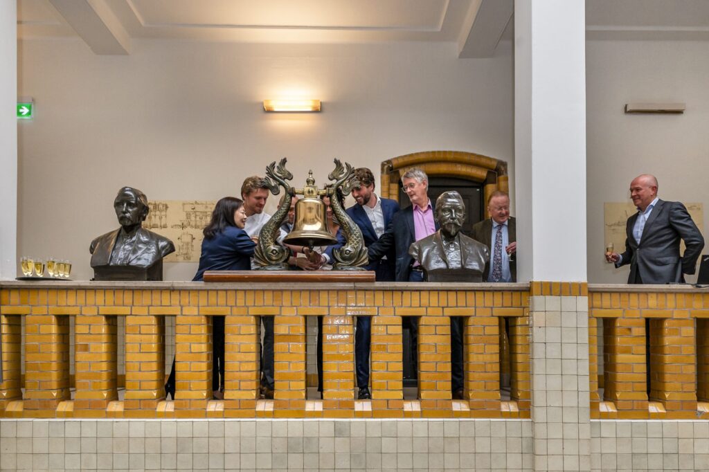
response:
[[[616,267],[630,264],[627,283],[682,283],[694,274],[704,238],[680,202],[657,198],[657,179],[642,174],[630,182],[630,198],[637,213],[625,225],[625,252],[607,252]],[[679,242],[686,249],[679,254]]]

